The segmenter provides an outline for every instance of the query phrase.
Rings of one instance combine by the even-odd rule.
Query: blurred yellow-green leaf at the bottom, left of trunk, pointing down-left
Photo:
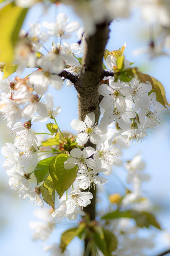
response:
[[[76,232],[78,230],[77,228],[70,228],[66,231],[64,231],[64,233],[61,235],[61,249],[62,252],[64,252],[64,250],[66,249],[66,246],[68,246],[68,244],[70,244],[71,240],[77,235]]]

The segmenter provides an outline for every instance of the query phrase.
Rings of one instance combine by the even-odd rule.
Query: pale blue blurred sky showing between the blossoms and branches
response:
[[[25,19],[23,29],[28,30],[29,22],[43,22],[48,20],[53,22],[55,17],[60,12],[65,12],[70,21],[78,20],[81,24],[80,18],[73,12],[71,7],[60,4],[59,6],[52,5],[43,13],[44,9],[41,4],[36,4]],[[150,76],[155,77],[164,85],[166,91],[166,98],[170,102],[170,56],[159,56],[150,59],[149,54],[141,54],[135,56],[134,50],[147,46],[150,42],[150,28],[147,22],[140,18],[138,10],[132,12],[128,19],[114,20],[110,25],[110,38],[106,48],[109,51],[115,50],[123,46],[127,42],[125,48],[125,57],[130,62],[135,62],[140,70]],[[51,38],[50,43],[45,47],[51,50],[51,42],[56,38]],[[70,43],[76,42],[76,34],[68,41]],[[170,54],[170,51],[169,53]],[[14,75],[15,76],[15,75]],[[14,77],[13,76],[13,77]],[[23,74],[24,76],[24,74]],[[13,78],[12,76],[10,78]],[[55,98],[55,106],[61,106],[61,113],[57,116],[57,123],[62,131],[68,131],[75,134],[70,127],[72,119],[78,118],[77,113],[77,94],[74,87],[66,87],[59,91],[50,88],[49,92]],[[146,172],[151,176],[151,180],[146,182],[143,186],[143,191],[150,199],[153,205],[154,213],[162,228],[170,232],[170,111],[162,112],[165,117],[163,124],[159,125],[153,130],[147,138],[142,142],[135,142],[131,147],[124,151],[123,158],[131,160],[136,154],[141,154],[143,160],[146,162]],[[42,132],[45,130],[45,124],[33,124],[33,130]],[[0,145],[5,145],[5,142],[13,143],[13,136],[11,130],[7,128],[6,121],[0,121]],[[2,168],[3,156],[0,155],[0,248],[1,255],[6,256],[45,256],[47,252],[42,250],[42,243],[33,242],[31,240],[32,231],[29,229],[28,222],[36,220],[33,216],[33,205],[27,200],[22,200],[18,197],[16,191],[10,190],[8,186],[8,177],[5,170]],[[125,173],[121,168],[115,170],[116,174],[125,179]],[[33,186],[35,180],[33,180]],[[106,187],[105,187],[106,188]],[[108,192],[115,193],[124,192],[122,186],[113,177],[108,177],[107,183]],[[64,230],[64,224],[57,227],[52,236],[47,240],[47,244],[59,242],[59,234]],[[76,250],[75,250],[76,243]],[[76,240],[68,247],[72,256],[80,256],[82,242]],[[164,238],[158,231],[156,237],[156,247],[148,256],[157,255],[159,252],[170,248],[170,242]]]

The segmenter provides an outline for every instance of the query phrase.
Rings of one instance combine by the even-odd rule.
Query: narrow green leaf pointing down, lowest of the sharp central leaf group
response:
[[[43,190],[44,194],[42,194],[42,196],[45,197],[45,198],[43,197],[43,199],[47,204],[49,204],[55,210],[55,186],[50,175],[44,181],[43,186],[49,192],[49,194],[47,194],[45,190]]]

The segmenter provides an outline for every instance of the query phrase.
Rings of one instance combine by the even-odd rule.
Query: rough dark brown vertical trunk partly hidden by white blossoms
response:
[[[93,36],[86,36],[86,45],[84,56],[82,58],[82,70],[76,83],[74,84],[78,92],[78,117],[79,120],[84,121],[86,114],[94,112],[96,122],[99,120],[100,108],[98,87],[104,77],[103,70],[103,56],[104,50],[109,38],[109,23],[104,22],[96,26],[96,33]],[[85,146],[92,146],[96,148],[96,145],[90,141]],[[91,220],[95,220],[96,217],[96,190],[90,189],[93,194],[91,204],[86,206],[84,210],[86,214],[90,216]],[[88,240],[84,241],[84,255],[91,256],[92,253],[87,252]]]

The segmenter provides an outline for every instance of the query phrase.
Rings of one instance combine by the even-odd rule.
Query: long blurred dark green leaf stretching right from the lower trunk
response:
[[[141,228],[144,226],[149,228],[149,226],[152,225],[158,229],[161,229],[155,217],[148,212],[138,212],[133,210],[120,212],[117,210],[115,212],[109,212],[102,217],[104,220],[112,220],[115,218],[133,218],[136,221],[136,224]]]

